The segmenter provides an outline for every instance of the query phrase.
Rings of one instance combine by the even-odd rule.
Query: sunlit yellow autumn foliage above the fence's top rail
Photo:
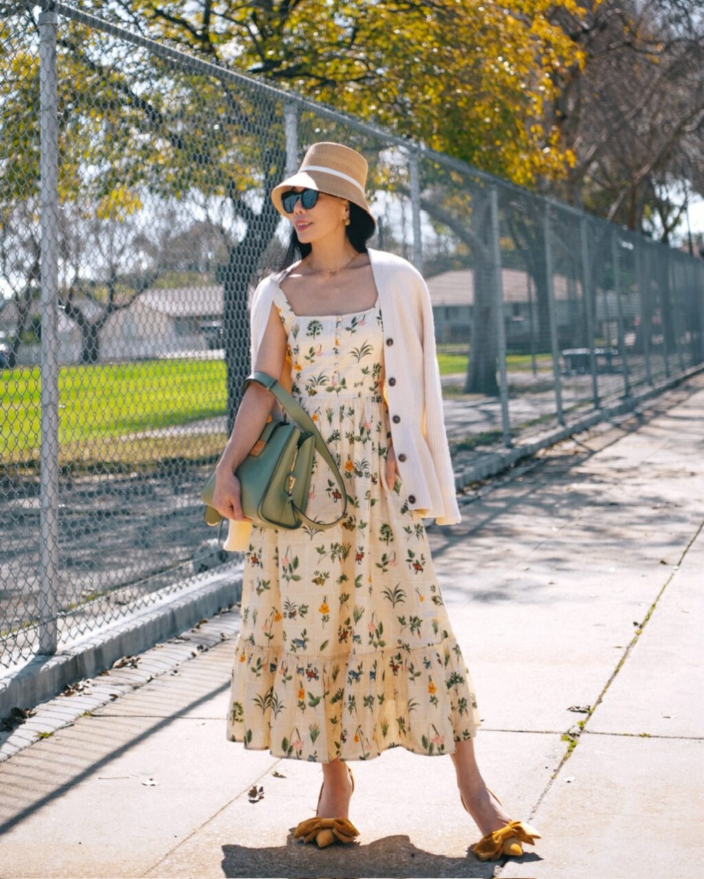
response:
[[[546,105],[583,50],[576,0],[131,0],[145,33],[290,87],[518,184],[572,161]]]

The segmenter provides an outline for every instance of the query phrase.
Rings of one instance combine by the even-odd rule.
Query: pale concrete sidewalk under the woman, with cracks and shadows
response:
[[[294,840],[320,768],[225,740],[235,610],[62,697],[89,714],[0,764],[0,875],[699,877],[703,453],[697,377],[429,528],[483,776],[543,835],[523,858],[468,854],[452,761],[403,748],[352,767],[357,844]]]

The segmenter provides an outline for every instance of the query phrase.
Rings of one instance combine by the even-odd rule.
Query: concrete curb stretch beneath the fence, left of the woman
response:
[[[11,709],[33,708],[51,699],[68,684],[110,668],[120,657],[142,653],[156,643],[214,616],[242,598],[242,565],[228,565],[204,581],[186,581],[156,605],[142,609],[109,628],[69,644],[53,656],[37,656],[0,678],[0,717]]]

